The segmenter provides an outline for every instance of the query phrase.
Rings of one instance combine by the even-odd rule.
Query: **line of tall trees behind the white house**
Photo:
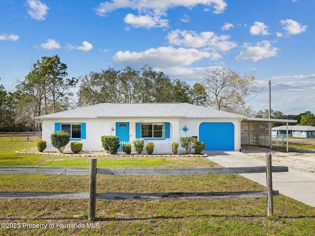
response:
[[[66,69],[58,55],[42,57],[23,81],[17,81],[15,92],[6,92],[0,85],[0,126],[33,126],[40,130],[40,123],[32,118],[104,102],[186,102],[248,117],[268,117],[267,110],[256,113],[246,104],[246,97],[256,89],[253,72],[241,76],[217,67],[205,73],[201,83],[190,87],[150,65],[140,70],[129,66],[108,68],[70,79],[66,78]],[[78,92],[73,94],[77,85]],[[310,112],[284,116],[272,111],[272,118],[293,118],[301,124],[315,125]]]

